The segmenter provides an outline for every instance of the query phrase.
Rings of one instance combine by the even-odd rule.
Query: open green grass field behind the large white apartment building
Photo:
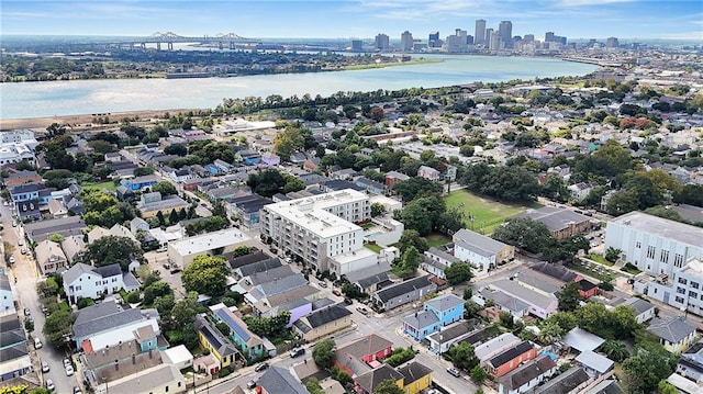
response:
[[[493,229],[500,226],[501,223],[520,215],[527,209],[542,207],[537,203],[531,205],[506,204],[471,194],[464,189],[453,191],[445,198],[445,201],[447,209],[464,204],[461,207],[466,216],[466,227],[483,234],[493,233]],[[471,223],[471,217],[473,217],[473,223]]]

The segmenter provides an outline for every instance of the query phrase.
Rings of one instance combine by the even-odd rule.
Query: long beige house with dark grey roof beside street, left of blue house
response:
[[[308,342],[352,327],[352,312],[339,304],[333,304],[301,317],[293,323],[293,330]]]

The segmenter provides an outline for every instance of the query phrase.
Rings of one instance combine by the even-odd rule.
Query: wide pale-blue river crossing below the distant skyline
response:
[[[433,57],[427,56],[427,57]],[[445,56],[443,63],[378,69],[198,79],[97,79],[0,83],[0,119],[211,109],[224,98],[436,88],[475,81],[582,76],[594,65],[548,58]]]

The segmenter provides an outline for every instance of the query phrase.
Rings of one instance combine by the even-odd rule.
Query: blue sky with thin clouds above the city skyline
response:
[[[416,38],[455,29],[473,34],[513,22],[513,35],[546,31],[569,38],[673,38],[703,42],[701,0],[2,0],[1,34],[133,35],[155,32],[202,36]]]

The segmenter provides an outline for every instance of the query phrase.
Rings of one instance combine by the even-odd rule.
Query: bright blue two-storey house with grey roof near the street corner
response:
[[[425,301],[422,312],[403,318],[403,333],[422,341],[431,334],[438,333],[442,327],[459,322],[464,317],[464,300],[445,294]]]

